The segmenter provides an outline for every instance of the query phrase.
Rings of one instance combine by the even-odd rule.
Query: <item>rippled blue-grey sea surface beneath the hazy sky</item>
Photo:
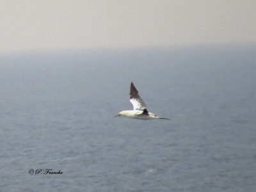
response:
[[[170,120],[113,118],[131,81]],[[0,88],[0,191],[256,191],[255,45],[2,55]]]

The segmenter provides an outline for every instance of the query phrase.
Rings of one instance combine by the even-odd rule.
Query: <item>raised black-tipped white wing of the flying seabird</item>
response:
[[[138,90],[136,90],[134,84],[131,82],[131,90],[130,90],[130,102],[132,103],[133,110],[144,110],[146,109],[146,104],[141,99]]]

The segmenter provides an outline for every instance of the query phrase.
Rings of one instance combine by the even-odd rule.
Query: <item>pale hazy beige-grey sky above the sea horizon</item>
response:
[[[2,0],[0,52],[256,43],[255,0]]]

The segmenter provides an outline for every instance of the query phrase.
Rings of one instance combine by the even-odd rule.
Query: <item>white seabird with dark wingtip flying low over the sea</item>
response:
[[[146,108],[146,104],[141,99],[138,90],[135,88],[134,84],[131,82],[131,89],[130,89],[130,102],[132,103],[133,110],[125,110],[118,113],[116,116],[127,116],[129,118],[138,118],[142,120],[150,120],[150,119],[167,119],[163,118],[158,115],[154,115],[153,113],[148,112]]]

